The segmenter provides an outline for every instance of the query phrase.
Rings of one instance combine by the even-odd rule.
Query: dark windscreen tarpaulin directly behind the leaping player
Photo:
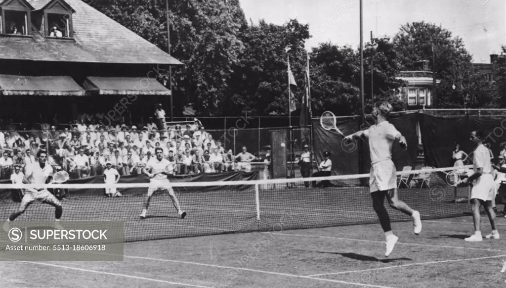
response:
[[[399,132],[401,132],[408,143],[408,149],[404,150],[398,142],[394,143],[392,148],[393,161],[397,166],[397,170],[402,170],[404,166],[413,166],[418,149],[418,137],[416,135],[417,114],[392,116],[389,118]],[[364,125],[359,125],[359,119],[339,120],[336,126],[345,134],[350,135],[358,131],[365,130],[374,124],[372,118],[367,118]],[[332,153],[332,175],[350,175],[359,174],[359,151],[358,142],[344,143],[343,137],[334,130],[327,131],[320,125],[319,120],[313,121],[313,137],[314,137],[314,153],[317,164],[323,161],[323,153],[330,151]],[[368,140],[364,141],[364,168],[366,173],[370,169],[369,144]],[[359,185],[358,179],[346,182],[335,182],[336,185]]]

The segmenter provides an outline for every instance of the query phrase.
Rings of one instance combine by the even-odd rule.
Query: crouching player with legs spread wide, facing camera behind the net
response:
[[[149,182],[151,184],[155,184],[155,187],[149,187],[148,189],[148,197],[146,202],[144,202],[144,209],[142,209],[142,213],[140,215],[141,219],[146,218],[146,212],[148,211],[149,201],[151,197],[157,190],[164,190],[168,192],[168,195],[171,196],[174,207],[178,210],[179,217],[184,219],[186,217],[186,212],[181,210],[181,206],[179,205],[178,198],[174,193],[174,189],[170,186],[170,182],[167,179],[168,175],[168,165],[173,165],[167,159],[163,158],[163,149],[157,147],[155,149],[156,158],[153,158],[148,161],[146,167],[142,170],[142,172],[149,176]]]

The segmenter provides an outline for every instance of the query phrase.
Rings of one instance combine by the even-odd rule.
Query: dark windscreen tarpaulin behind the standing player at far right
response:
[[[500,143],[506,141],[506,120],[503,118],[444,118],[421,114],[420,130],[427,164],[438,168],[453,166],[452,152],[456,143],[462,151],[471,154],[474,145],[470,134],[474,129],[484,132],[484,142],[490,143],[496,158],[500,152]]]

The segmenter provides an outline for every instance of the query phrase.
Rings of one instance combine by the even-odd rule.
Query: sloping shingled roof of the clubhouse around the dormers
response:
[[[29,0],[45,7],[56,0]],[[74,40],[49,39],[32,26],[33,37],[0,35],[0,59],[128,64],[174,64],[179,60],[80,0],[64,0],[72,14]]]

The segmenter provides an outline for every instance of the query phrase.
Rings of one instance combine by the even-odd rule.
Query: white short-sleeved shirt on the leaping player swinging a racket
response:
[[[392,146],[395,138],[400,134],[395,126],[388,121],[372,125],[364,131],[364,136],[369,138],[372,164],[392,158]]]

